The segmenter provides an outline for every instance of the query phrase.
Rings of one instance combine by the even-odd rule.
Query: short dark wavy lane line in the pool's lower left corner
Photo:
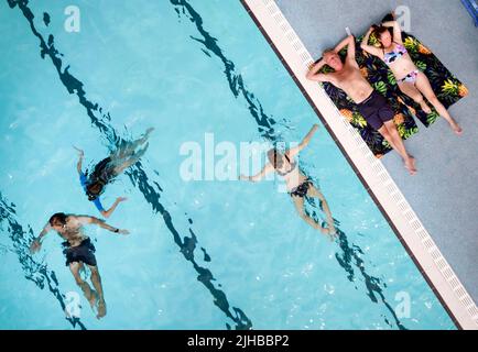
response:
[[[28,230],[24,230],[15,218],[15,205],[9,205],[9,202],[3,198],[0,191],[0,224],[2,222],[8,223],[8,232],[10,234],[9,238],[13,243],[12,252],[19,258],[19,262],[24,273],[24,277],[28,280],[33,282],[40,289],[43,289],[45,287],[46,282],[48,290],[53,294],[53,296],[55,296],[56,300],[62,307],[62,310],[65,312],[65,295],[59,292],[59,283],[56,278],[55,272],[48,270],[46,264],[35,261],[30,254],[30,243],[34,238],[32,227],[28,226]],[[65,316],[65,319],[72,324],[73,328],[76,328],[78,326],[82,330],[87,330],[86,326],[78,317],[68,318],[67,316]]]

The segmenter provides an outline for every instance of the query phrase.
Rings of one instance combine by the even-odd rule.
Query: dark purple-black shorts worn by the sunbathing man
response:
[[[392,108],[390,108],[387,99],[376,90],[357,107],[366,118],[367,123],[377,131],[383,127],[383,122],[393,120],[394,112]]]

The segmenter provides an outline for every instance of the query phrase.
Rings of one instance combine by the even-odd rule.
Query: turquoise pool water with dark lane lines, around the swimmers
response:
[[[77,1],[77,33],[64,28],[69,4],[0,2],[0,328],[455,329],[324,128],[300,164],[336,242],[279,182],[182,179],[181,146],[206,133],[294,142],[319,123],[238,1]],[[129,198],[108,222],[131,234],[87,229],[108,314],[78,296],[68,318],[80,290],[61,239],[34,256],[28,245],[53,212],[98,216],[72,145],[93,165],[149,127],[145,156],[104,197]]]

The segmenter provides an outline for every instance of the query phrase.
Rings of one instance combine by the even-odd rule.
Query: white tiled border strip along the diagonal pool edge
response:
[[[340,114],[325,90],[305,78],[314,59],[276,3],[273,0],[245,2],[336,134],[455,319],[463,329],[478,330],[477,306],[383,164],[376,158],[360,134]]]

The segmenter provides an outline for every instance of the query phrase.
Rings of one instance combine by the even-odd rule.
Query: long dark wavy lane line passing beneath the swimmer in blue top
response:
[[[18,6],[19,9],[22,11],[23,16],[28,20],[30,24],[30,29],[32,30],[33,34],[40,40],[42,58],[44,58],[45,55],[47,55],[52,59],[52,63],[58,73],[62,84],[65,86],[65,88],[68,90],[69,94],[77,95],[79,99],[79,103],[85,107],[85,109],[87,110],[87,114],[91,120],[91,123],[100,130],[102,136],[106,138],[107,141],[110,142],[110,144],[118,145],[119,143],[123,142],[123,140],[116,133],[115,129],[110,124],[108,124],[108,122],[111,120],[110,114],[102,113],[102,108],[100,108],[98,103],[94,103],[86,98],[86,92],[83,89],[83,82],[68,73],[69,65],[65,67],[64,72],[62,72],[63,62],[58,57],[58,55],[61,55],[59,52],[55,48],[54,36],[51,34],[48,36],[48,42],[46,44],[45,40],[43,38],[43,35],[40,34],[40,32],[36,30],[33,23],[34,14],[28,7],[29,1],[7,0],[7,2],[11,9]],[[101,119],[98,119],[95,116],[94,111],[97,110],[99,110],[99,112],[101,113]],[[215,278],[211,272],[208,268],[202,267],[196,263],[194,258],[194,250],[196,249],[195,244],[197,243],[197,238],[191,228],[189,228],[189,234],[192,235],[192,238],[185,237],[184,243],[182,242],[178,232],[173,226],[173,221],[170,212],[166,210],[166,208],[164,208],[164,206],[159,200],[161,198],[160,193],[163,191],[160,185],[156,182],[153,182],[153,184],[157,187],[157,191],[156,191],[155,188],[146,182],[148,176],[142,169],[140,162],[138,162],[134,165],[133,170],[129,173],[129,176],[133,186],[137,186],[138,183],[139,190],[142,193],[145,200],[152,206],[153,210],[162,215],[165,226],[173,234],[174,242],[181,249],[181,253],[188,262],[193,264],[194,270],[198,274],[197,279],[213,295],[214,305],[218,307],[222,312],[225,312],[225,315],[236,323],[236,329],[245,329],[245,330],[251,329],[252,322],[246,316],[246,314],[240,308],[230,307],[226,294],[221,289],[216,288],[216,286],[213,284],[213,280],[215,280]],[[192,220],[188,219],[188,221],[191,224]],[[232,309],[232,311],[230,311],[230,308]],[[226,327],[230,329],[230,326],[228,323],[226,323]]]

